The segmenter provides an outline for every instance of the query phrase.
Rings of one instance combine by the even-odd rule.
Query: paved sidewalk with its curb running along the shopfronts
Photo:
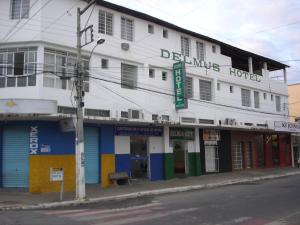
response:
[[[0,188],[0,210],[38,209],[136,198],[139,196],[213,188],[243,182],[254,182],[265,179],[300,175],[298,168],[259,169],[220,174],[202,175],[199,177],[175,178],[164,181],[133,181],[131,185],[101,188],[100,185],[87,185],[87,199],[74,200],[75,193],[64,193],[64,201],[59,201],[59,193],[30,194],[27,189]]]

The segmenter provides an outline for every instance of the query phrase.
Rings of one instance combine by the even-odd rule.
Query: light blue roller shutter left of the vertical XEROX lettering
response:
[[[28,187],[29,129],[8,126],[3,130],[3,187]]]

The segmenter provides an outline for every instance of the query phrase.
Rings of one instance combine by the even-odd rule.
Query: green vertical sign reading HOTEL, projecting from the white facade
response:
[[[185,109],[188,107],[185,89],[185,63],[180,61],[173,64],[175,108]]]

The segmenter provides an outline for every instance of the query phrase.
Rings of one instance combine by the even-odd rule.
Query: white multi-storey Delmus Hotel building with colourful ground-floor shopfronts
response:
[[[74,189],[68,118],[76,105],[76,12],[86,5],[0,2],[4,187],[55,191],[50,168],[64,168],[65,188]],[[160,180],[290,165],[290,137],[274,126],[288,121],[286,65],[109,2],[96,1],[81,20],[105,39],[83,47],[87,183],[107,186],[114,171]],[[186,72],[182,109],[176,62]],[[273,80],[280,70],[283,81]]]

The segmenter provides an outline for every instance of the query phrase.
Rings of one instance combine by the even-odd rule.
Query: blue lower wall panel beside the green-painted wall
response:
[[[163,153],[150,154],[151,181],[164,179],[164,155]]]

